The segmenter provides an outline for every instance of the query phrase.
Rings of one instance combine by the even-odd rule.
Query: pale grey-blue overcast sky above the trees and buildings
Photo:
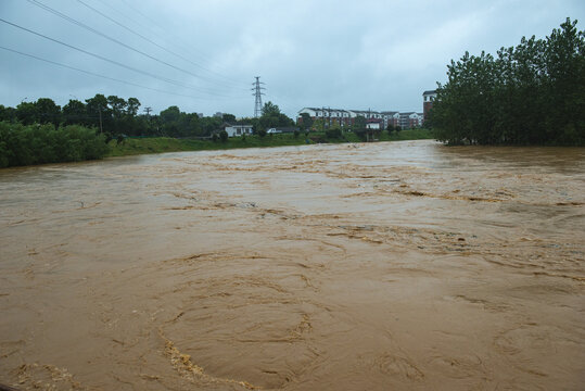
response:
[[[0,47],[53,62],[0,49],[0,104],[103,93],[253,116],[260,76],[263,102],[291,117],[421,112],[452,59],[544,38],[568,16],[584,29],[585,1],[0,0],[3,21],[99,56],[0,21]]]

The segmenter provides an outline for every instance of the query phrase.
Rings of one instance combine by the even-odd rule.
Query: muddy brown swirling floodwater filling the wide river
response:
[[[0,171],[0,383],[583,390],[585,149]]]

